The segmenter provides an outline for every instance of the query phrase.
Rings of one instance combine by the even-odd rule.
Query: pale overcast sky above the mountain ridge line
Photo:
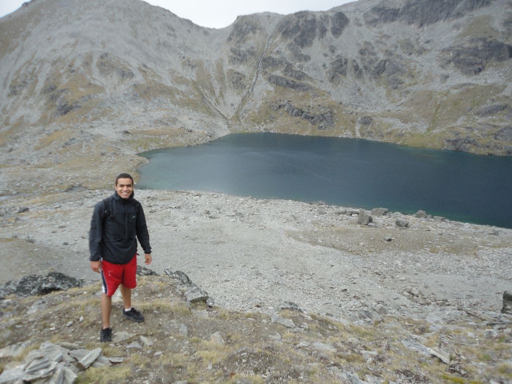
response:
[[[37,0],[35,0],[37,1]],[[83,0],[87,1],[87,0]],[[327,11],[352,0],[150,0],[147,3],[167,8],[174,14],[209,28],[231,25],[239,15],[259,12],[289,14],[298,11]],[[0,0],[0,17],[14,12],[24,0]]]

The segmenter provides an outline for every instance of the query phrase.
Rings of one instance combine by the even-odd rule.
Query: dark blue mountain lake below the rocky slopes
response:
[[[512,158],[361,139],[237,134],[141,154],[138,188],[386,207],[512,228]]]

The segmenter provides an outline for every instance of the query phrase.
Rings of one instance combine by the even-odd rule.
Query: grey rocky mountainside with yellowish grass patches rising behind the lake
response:
[[[220,30],[139,0],[32,0],[0,19],[2,192],[56,171],[93,186],[77,172],[236,132],[510,156],[511,58],[507,0],[360,0]]]

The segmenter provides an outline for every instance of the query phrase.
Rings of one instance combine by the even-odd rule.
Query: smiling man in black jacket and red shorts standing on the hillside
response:
[[[132,289],[137,286],[137,239],[144,250],[145,263],[151,264],[150,236],[142,206],[134,199],[133,178],[120,174],[115,193],[94,207],[89,232],[91,268],[101,273],[103,289],[101,342],[112,340],[112,295],[119,286],[123,316],[137,323],[144,321],[144,316],[132,307]]]

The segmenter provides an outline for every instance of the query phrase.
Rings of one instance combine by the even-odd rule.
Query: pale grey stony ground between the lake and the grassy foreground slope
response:
[[[75,189],[0,201],[0,284],[58,271],[99,289],[88,231],[95,203],[112,191]],[[185,272],[226,309],[291,303],[362,325],[385,314],[492,322],[512,290],[510,229],[194,191],[135,197],[150,230],[151,269]]]

